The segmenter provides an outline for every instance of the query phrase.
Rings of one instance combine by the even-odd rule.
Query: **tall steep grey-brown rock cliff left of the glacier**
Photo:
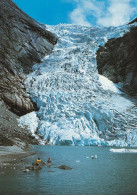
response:
[[[45,25],[27,16],[11,0],[0,0],[0,100],[15,114],[36,110],[25,90],[25,74],[56,42]]]

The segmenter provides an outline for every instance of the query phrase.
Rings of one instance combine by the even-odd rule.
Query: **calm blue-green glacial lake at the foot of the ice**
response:
[[[0,194],[129,195],[137,194],[137,153],[110,152],[110,147],[33,146],[36,155],[23,159],[27,166],[37,157],[51,158],[51,167],[22,172],[0,169]],[[91,159],[92,155],[97,159]],[[67,165],[72,170],[57,167]]]

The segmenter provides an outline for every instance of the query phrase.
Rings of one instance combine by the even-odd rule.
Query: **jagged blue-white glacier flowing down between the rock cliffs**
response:
[[[33,66],[26,89],[39,110],[19,118],[44,144],[137,146],[137,104],[98,74],[96,51],[130,25],[47,26],[58,36],[52,53]]]

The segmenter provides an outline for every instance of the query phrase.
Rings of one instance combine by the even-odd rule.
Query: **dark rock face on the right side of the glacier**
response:
[[[137,95],[137,27],[101,46],[97,51],[97,64],[100,74],[115,83],[123,83],[123,91],[128,94]]]

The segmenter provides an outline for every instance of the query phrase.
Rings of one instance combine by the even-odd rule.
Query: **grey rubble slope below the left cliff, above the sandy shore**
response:
[[[20,146],[20,142],[38,144],[27,129],[18,126],[17,119],[18,116],[9,111],[4,102],[0,101],[0,145]]]

